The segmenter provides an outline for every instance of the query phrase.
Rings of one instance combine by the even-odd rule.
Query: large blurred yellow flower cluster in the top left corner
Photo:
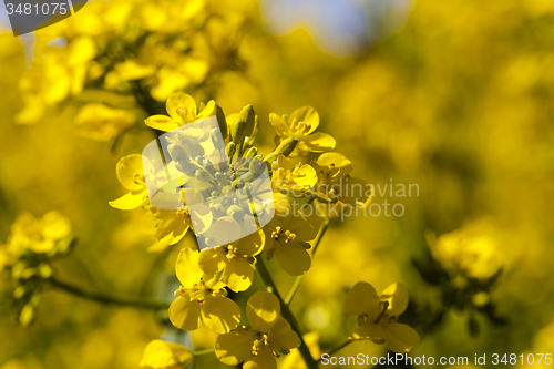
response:
[[[112,140],[173,92],[209,91],[222,72],[243,71],[242,34],[253,8],[249,1],[90,1],[85,11],[38,31],[16,121],[35,123],[69,102],[79,109],[81,135]]]

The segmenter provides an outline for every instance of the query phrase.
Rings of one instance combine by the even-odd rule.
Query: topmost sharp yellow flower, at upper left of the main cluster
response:
[[[193,96],[183,92],[172,94],[167,99],[165,109],[170,116],[153,115],[147,117],[144,123],[152,129],[168,132],[184,124],[215,115],[216,113],[216,105],[213,100],[204,109],[201,109],[199,113],[196,113],[196,102]]]

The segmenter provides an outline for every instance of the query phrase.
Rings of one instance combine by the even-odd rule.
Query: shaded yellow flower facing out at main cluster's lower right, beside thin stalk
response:
[[[314,208],[294,212],[290,204],[284,203],[264,227],[267,257],[275,255],[277,263],[289,275],[302,275],[311,266],[308,242],[316,238],[321,222]]]

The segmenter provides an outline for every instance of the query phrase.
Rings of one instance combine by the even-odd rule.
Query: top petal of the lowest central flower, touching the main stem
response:
[[[248,321],[258,332],[267,332],[279,315],[279,299],[274,294],[257,291],[246,304]]]

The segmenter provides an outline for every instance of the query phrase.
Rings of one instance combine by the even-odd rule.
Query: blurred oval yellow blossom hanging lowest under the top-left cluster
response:
[[[110,141],[131,127],[135,121],[133,113],[101,103],[84,105],[75,116],[80,134],[95,141]]]

